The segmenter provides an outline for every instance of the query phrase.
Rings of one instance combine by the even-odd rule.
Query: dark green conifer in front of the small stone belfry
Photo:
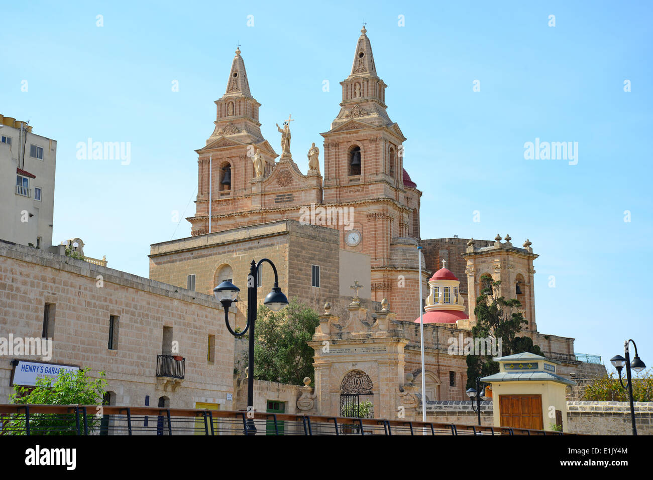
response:
[[[515,353],[530,352],[535,355],[544,355],[539,346],[533,344],[529,337],[518,337],[526,319],[518,308],[521,303],[517,299],[506,299],[497,297],[501,281],[496,282],[490,278],[483,278],[483,289],[481,295],[476,299],[474,315],[476,325],[471,327],[473,338],[493,338],[494,342],[501,339],[500,355],[513,355]],[[467,356],[467,387],[475,388],[477,377],[485,377],[498,373],[499,365],[492,360],[492,355],[468,355]]]

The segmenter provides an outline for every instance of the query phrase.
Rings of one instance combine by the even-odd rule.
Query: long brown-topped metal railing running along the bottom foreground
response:
[[[94,405],[0,404],[0,435],[569,435],[511,427],[291,415],[287,413]]]

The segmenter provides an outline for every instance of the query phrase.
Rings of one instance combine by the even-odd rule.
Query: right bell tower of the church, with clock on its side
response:
[[[341,248],[370,255],[372,300],[387,298],[400,320],[419,316],[419,201],[422,192],[404,170],[406,137],[385,104],[387,85],[377,74],[367,30],[360,30],[340,112],[324,141],[323,203],[353,212],[337,226]],[[422,291],[428,293],[422,273]],[[364,286],[366,288],[366,286]],[[413,299],[408,301],[408,299]]]

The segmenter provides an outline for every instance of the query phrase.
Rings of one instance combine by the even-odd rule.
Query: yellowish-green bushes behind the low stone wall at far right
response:
[[[634,372],[633,372],[634,373]],[[622,372],[626,383],[626,372]],[[653,369],[649,368],[632,378],[633,402],[653,402]],[[628,390],[619,383],[618,376],[611,374],[595,378],[584,391],[582,400],[597,402],[628,402]]]

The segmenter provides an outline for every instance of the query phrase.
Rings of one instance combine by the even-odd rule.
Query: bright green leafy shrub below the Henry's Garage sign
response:
[[[104,372],[99,372],[99,378],[91,378],[89,373],[89,368],[63,372],[54,383],[51,378],[39,378],[31,390],[16,385],[9,401],[22,405],[101,405],[106,389]],[[96,413],[95,410],[87,411],[89,432],[99,426],[100,419]],[[5,423],[3,433],[26,435],[26,427],[24,413],[14,414]],[[75,415],[74,413],[33,413],[29,415],[29,428],[33,435],[75,435]]]

